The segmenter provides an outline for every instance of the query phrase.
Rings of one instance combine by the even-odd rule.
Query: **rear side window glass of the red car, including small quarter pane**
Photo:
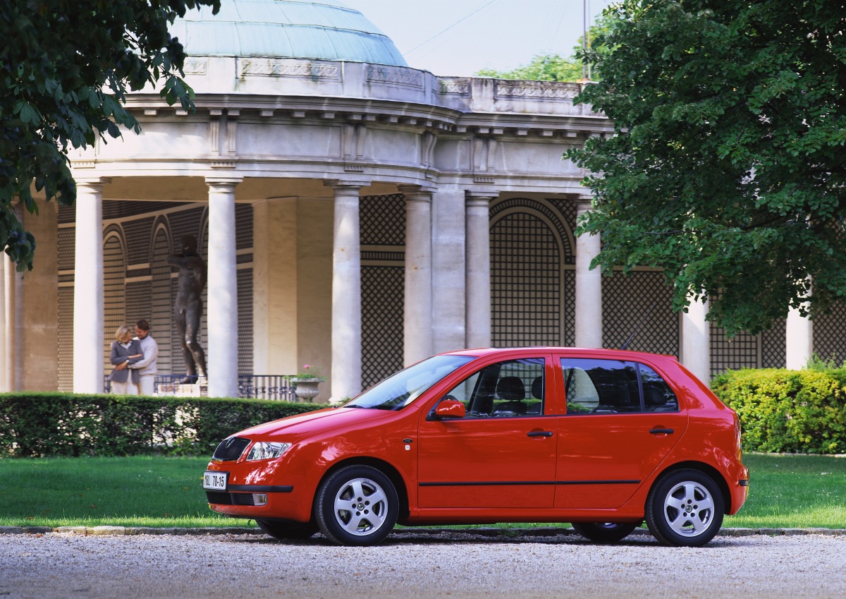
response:
[[[561,367],[569,415],[678,411],[673,389],[647,365],[563,358]]]

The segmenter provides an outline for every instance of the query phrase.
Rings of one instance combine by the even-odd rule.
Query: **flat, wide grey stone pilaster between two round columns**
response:
[[[432,353],[467,347],[467,232],[464,190],[438,189],[431,198]]]

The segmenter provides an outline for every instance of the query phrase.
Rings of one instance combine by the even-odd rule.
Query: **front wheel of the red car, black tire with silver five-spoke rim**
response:
[[[399,500],[391,480],[371,466],[344,466],[317,488],[315,520],[338,545],[375,545],[397,523]]]

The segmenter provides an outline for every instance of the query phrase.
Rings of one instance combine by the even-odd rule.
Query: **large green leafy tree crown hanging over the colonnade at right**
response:
[[[625,0],[577,98],[615,135],[591,173],[595,264],[662,267],[727,332],[846,298],[846,19],[832,0]],[[809,307],[810,306],[810,307]]]

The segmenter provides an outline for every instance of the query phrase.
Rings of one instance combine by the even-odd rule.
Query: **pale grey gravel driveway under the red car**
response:
[[[0,598],[843,597],[846,535],[717,536],[662,547],[397,531],[378,547],[316,536],[0,534]]]

